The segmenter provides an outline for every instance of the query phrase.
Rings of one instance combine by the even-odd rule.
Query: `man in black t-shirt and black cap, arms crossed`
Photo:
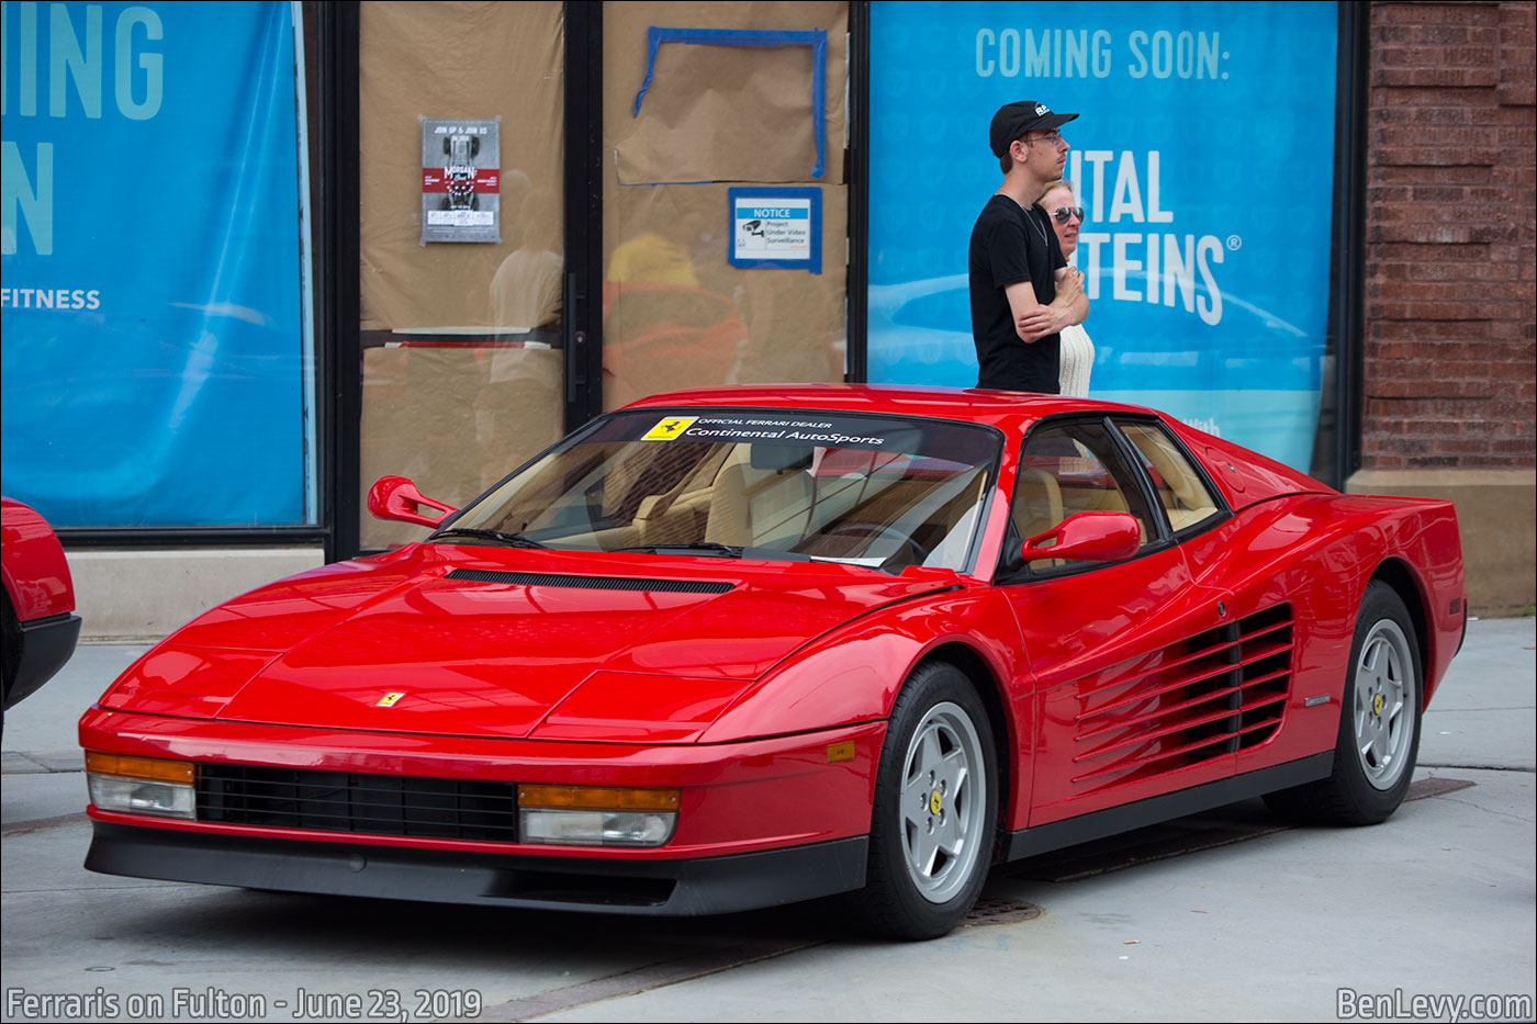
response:
[[[1022,100],[999,108],[988,141],[1004,183],[971,229],[971,338],[978,387],[1057,394],[1057,334],[1084,323],[1084,277],[1067,266],[1051,218],[1036,201],[1062,177],[1077,114]]]

